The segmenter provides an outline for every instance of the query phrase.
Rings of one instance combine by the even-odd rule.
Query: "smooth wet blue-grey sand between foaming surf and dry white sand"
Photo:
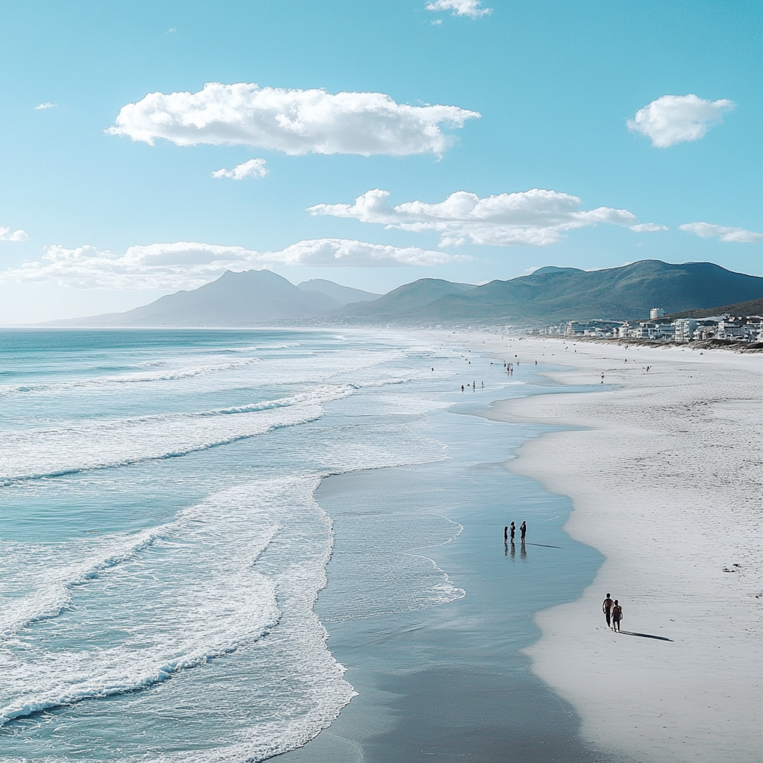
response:
[[[629,760],[601,755],[581,739],[574,708],[533,673],[522,651],[539,637],[533,613],[579,597],[601,562],[562,530],[567,499],[505,468],[511,449],[537,427],[437,416],[447,430],[439,436],[456,443],[449,462],[337,475],[321,484],[316,500],[333,517],[336,542],[317,612],[323,620],[327,600],[342,595],[332,565],[356,552],[346,526],[360,510],[408,507],[462,524],[452,542],[420,552],[466,594],[418,611],[324,620],[329,648],[359,696],[316,739],[283,757],[291,763]],[[459,432],[465,434],[460,444]],[[531,541],[523,548],[517,537],[513,553],[503,542],[512,519],[517,526],[527,520]]]

